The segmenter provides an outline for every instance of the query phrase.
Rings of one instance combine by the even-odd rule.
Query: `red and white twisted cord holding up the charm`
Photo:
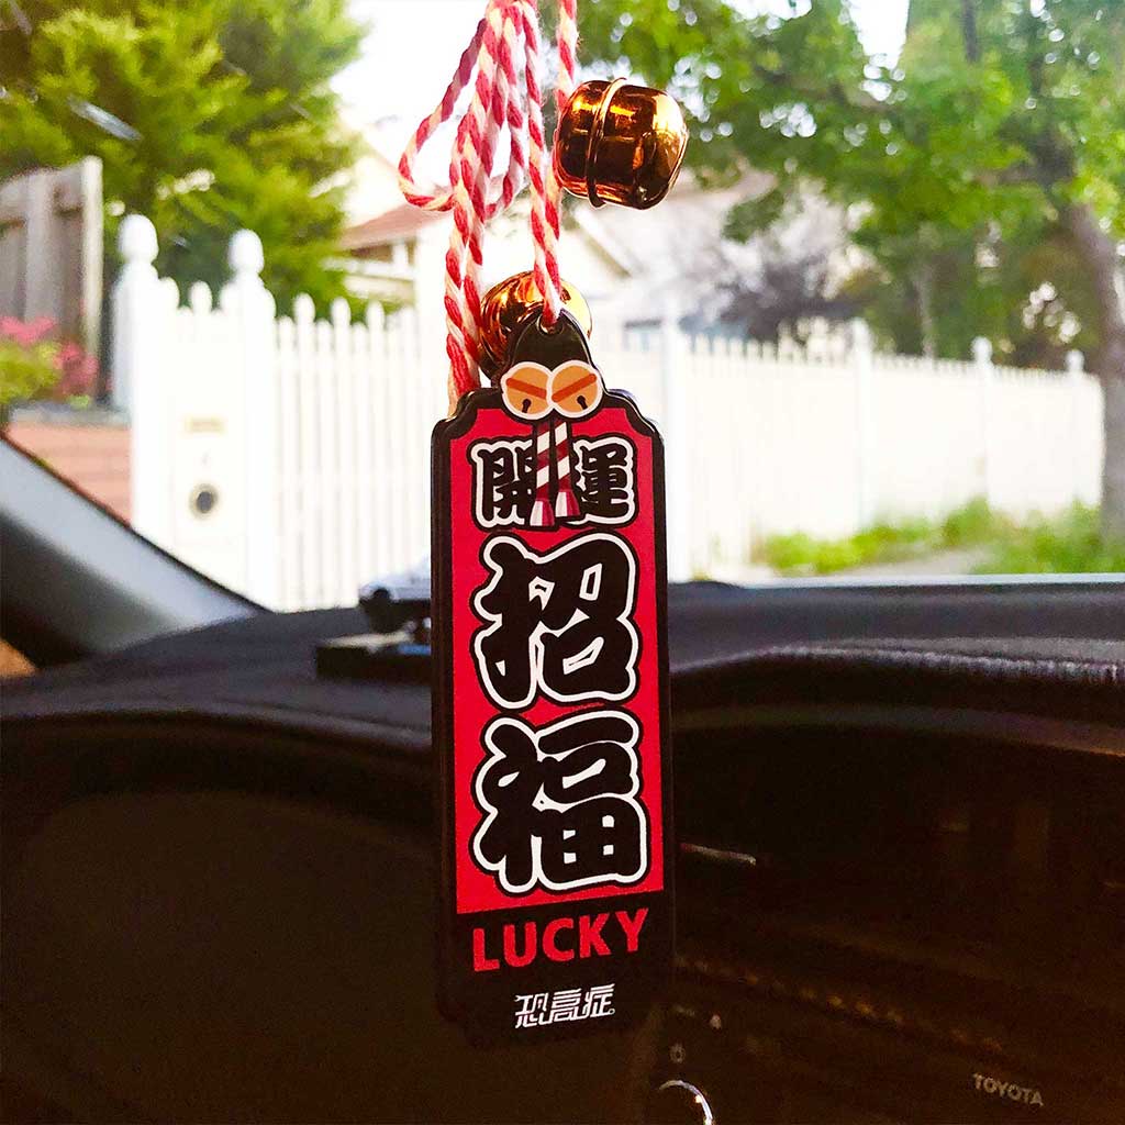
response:
[[[560,107],[575,82],[576,0],[559,0]],[[531,186],[531,234],[536,288],[543,320],[554,324],[562,307],[559,278],[559,184],[547,159],[540,86],[539,12],[536,0],[488,0],[485,14],[441,101],[418,124],[398,160],[406,200],[425,210],[452,212],[446,253],[446,351],[450,399],[480,386],[480,271],[485,224],[507,209],[526,181]],[[475,79],[474,79],[474,75]],[[418,153],[452,118],[470,82],[468,108],[458,122],[447,187],[422,188]],[[494,170],[501,137],[508,137],[507,166]]]

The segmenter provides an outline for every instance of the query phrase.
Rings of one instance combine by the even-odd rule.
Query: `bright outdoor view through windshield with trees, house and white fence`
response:
[[[8,439],[271,606],[424,564],[450,220],[395,165],[482,10],[0,0]],[[660,206],[569,199],[561,246],[665,434],[673,578],[1125,569],[1125,4],[579,29],[692,128]],[[486,280],[530,263],[521,197]]]

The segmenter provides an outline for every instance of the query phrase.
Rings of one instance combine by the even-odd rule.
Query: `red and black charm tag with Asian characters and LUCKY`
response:
[[[672,960],[664,450],[566,313],[433,433],[442,1006],[642,1019]]]

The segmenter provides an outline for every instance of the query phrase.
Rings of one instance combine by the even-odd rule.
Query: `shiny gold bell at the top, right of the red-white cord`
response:
[[[595,207],[644,210],[667,195],[686,147],[684,115],[668,94],[620,78],[583,82],[555,133],[555,174]]]

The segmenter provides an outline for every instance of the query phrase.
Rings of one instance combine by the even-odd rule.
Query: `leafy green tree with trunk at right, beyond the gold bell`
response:
[[[864,52],[846,0],[791,8],[586,0],[584,53],[676,93],[704,172],[774,173],[732,228],[799,181],[858,205],[857,238],[910,281],[920,345],[960,351],[973,316],[1020,316],[1042,246],[1062,249],[1050,280],[1086,314],[1105,388],[1104,529],[1125,537],[1125,4],[914,0],[894,66]],[[978,270],[982,248],[998,261]]]

